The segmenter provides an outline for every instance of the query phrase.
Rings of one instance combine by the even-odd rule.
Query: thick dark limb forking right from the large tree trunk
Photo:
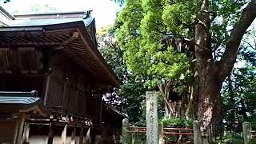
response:
[[[242,15],[234,28],[231,30],[230,38],[226,43],[226,50],[218,67],[219,76],[223,80],[226,78],[234,66],[234,62],[238,55],[238,49],[242,41],[242,37],[246,34],[247,28],[254,22],[256,17],[256,0],[251,0],[246,8],[242,11]]]

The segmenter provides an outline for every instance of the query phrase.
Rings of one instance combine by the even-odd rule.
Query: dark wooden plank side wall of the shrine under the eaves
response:
[[[62,54],[54,55],[50,82],[50,106],[62,106],[68,114],[86,115],[86,74]],[[61,101],[59,101],[61,100]]]

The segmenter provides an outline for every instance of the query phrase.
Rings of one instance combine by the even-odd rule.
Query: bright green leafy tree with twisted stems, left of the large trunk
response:
[[[187,98],[170,98],[170,89],[187,97],[186,76],[190,75],[190,62],[186,54],[161,44],[167,34],[161,18],[163,9],[158,6],[161,2],[151,4],[139,0],[127,1],[118,14],[118,20],[123,22],[117,33],[118,44],[126,51],[124,57],[129,69],[137,76],[144,76],[145,85],[151,89],[158,86],[166,102],[166,111],[179,115],[179,108],[186,111],[186,106],[181,106],[178,100]]]

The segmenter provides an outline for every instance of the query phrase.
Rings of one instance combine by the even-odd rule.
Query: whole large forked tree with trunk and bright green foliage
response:
[[[197,95],[193,95],[198,103],[197,118],[207,130],[211,123],[222,120],[222,82],[230,74],[242,37],[256,17],[255,7],[255,0],[127,0],[118,14],[122,22],[118,44],[125,49],[128,68],[134,74],[146,75],[150,86],[162,78],[184,79],[186,83],[193,71],[193,83],[198,82]],[[170,33],[178,46],[184,44],[194,52],[193,60],[177,54],[175,45],[162,46],[159,41]]]

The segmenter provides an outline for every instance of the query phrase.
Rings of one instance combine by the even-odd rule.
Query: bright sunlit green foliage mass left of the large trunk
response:
[[[186,54],[178,53],[171,46],[163,46],[161,40],[167,30],[177,34],[188,31],[180,31],[181,28],[174,26],[175,20],[170,26],[170,19],[191,21],[188,12],[186,15],[179,14],[179,10],[188,10],[187,6],[192,9],[193,6],[186,3],[170,7],[166,3],[162,0],[128,0],[118,14],[118,22],[122,26],[116,31],[116,36],[118,44],[124,49],[126,65],[137,77],[142,77],[145,86],[150,88],[156,87],[160,79],[186,85],[191,74]]]

